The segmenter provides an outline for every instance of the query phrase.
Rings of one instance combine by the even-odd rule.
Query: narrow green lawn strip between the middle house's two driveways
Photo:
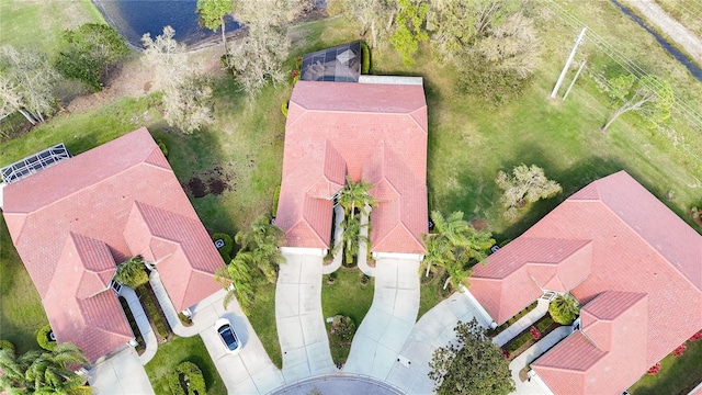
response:
[[[373,304],[373,293],[375,290],[375,279],[365,285],[361,285],[361,276],[363,272],[358,268],[347,269],[339,268],[336,272],[337,278],[333,284],[327,283],[327,275],[322,276],[321,285],[321,314],[325,319],[336,315],[351,317],[355,324],[356,330],[363,317]],[[327,334],[330,324],[326,324]],[[349,348],[333,347],[330,343],[331,358],[335,361],[346,361],[349,357]]]

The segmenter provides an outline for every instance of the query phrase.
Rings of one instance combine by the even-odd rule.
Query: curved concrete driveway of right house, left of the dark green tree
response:
[[[463,293],[454,293],[427,312],[412,328],[386,382],[405,394],[433,393],[433,382],[428,376],[431,356],[439,347],[456,339],[453,328],[458,321],[469,321],[474,317],[483,327],[488,327],[478,308]]]

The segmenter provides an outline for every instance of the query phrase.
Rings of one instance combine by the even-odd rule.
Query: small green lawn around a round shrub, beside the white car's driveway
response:
[[[224,386],[224,382],[200,336],[189,338],[174,336],[169,342],[159,345],[156,356],[145,366],[146,374],[148,374],[157,395],[171,393],[167,375],[183,361],[193,362],[202,370],[208,395],[227,393],[227,388]]]

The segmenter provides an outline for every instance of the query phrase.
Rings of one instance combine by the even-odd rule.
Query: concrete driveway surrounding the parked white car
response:
[[[214,329],[214,323],[219,317],[229,318],[244,345],[238,354],[227,353],[219,340]],[[284,384],[281,371],[269,359],[236,300],[225,309],[222,298],[216,298],[208,306],[200,308],[193,321],[200,327],[200,336],[229,394],[268,394]]]

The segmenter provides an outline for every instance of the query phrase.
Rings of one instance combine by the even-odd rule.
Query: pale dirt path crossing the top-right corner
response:
[[[665,32],[676,44],[690,54],[695,63],[702,65],[702,40],[668,15],[654,0],[630,0],[626,1],[626,4],[638,10],[648,22]]]

